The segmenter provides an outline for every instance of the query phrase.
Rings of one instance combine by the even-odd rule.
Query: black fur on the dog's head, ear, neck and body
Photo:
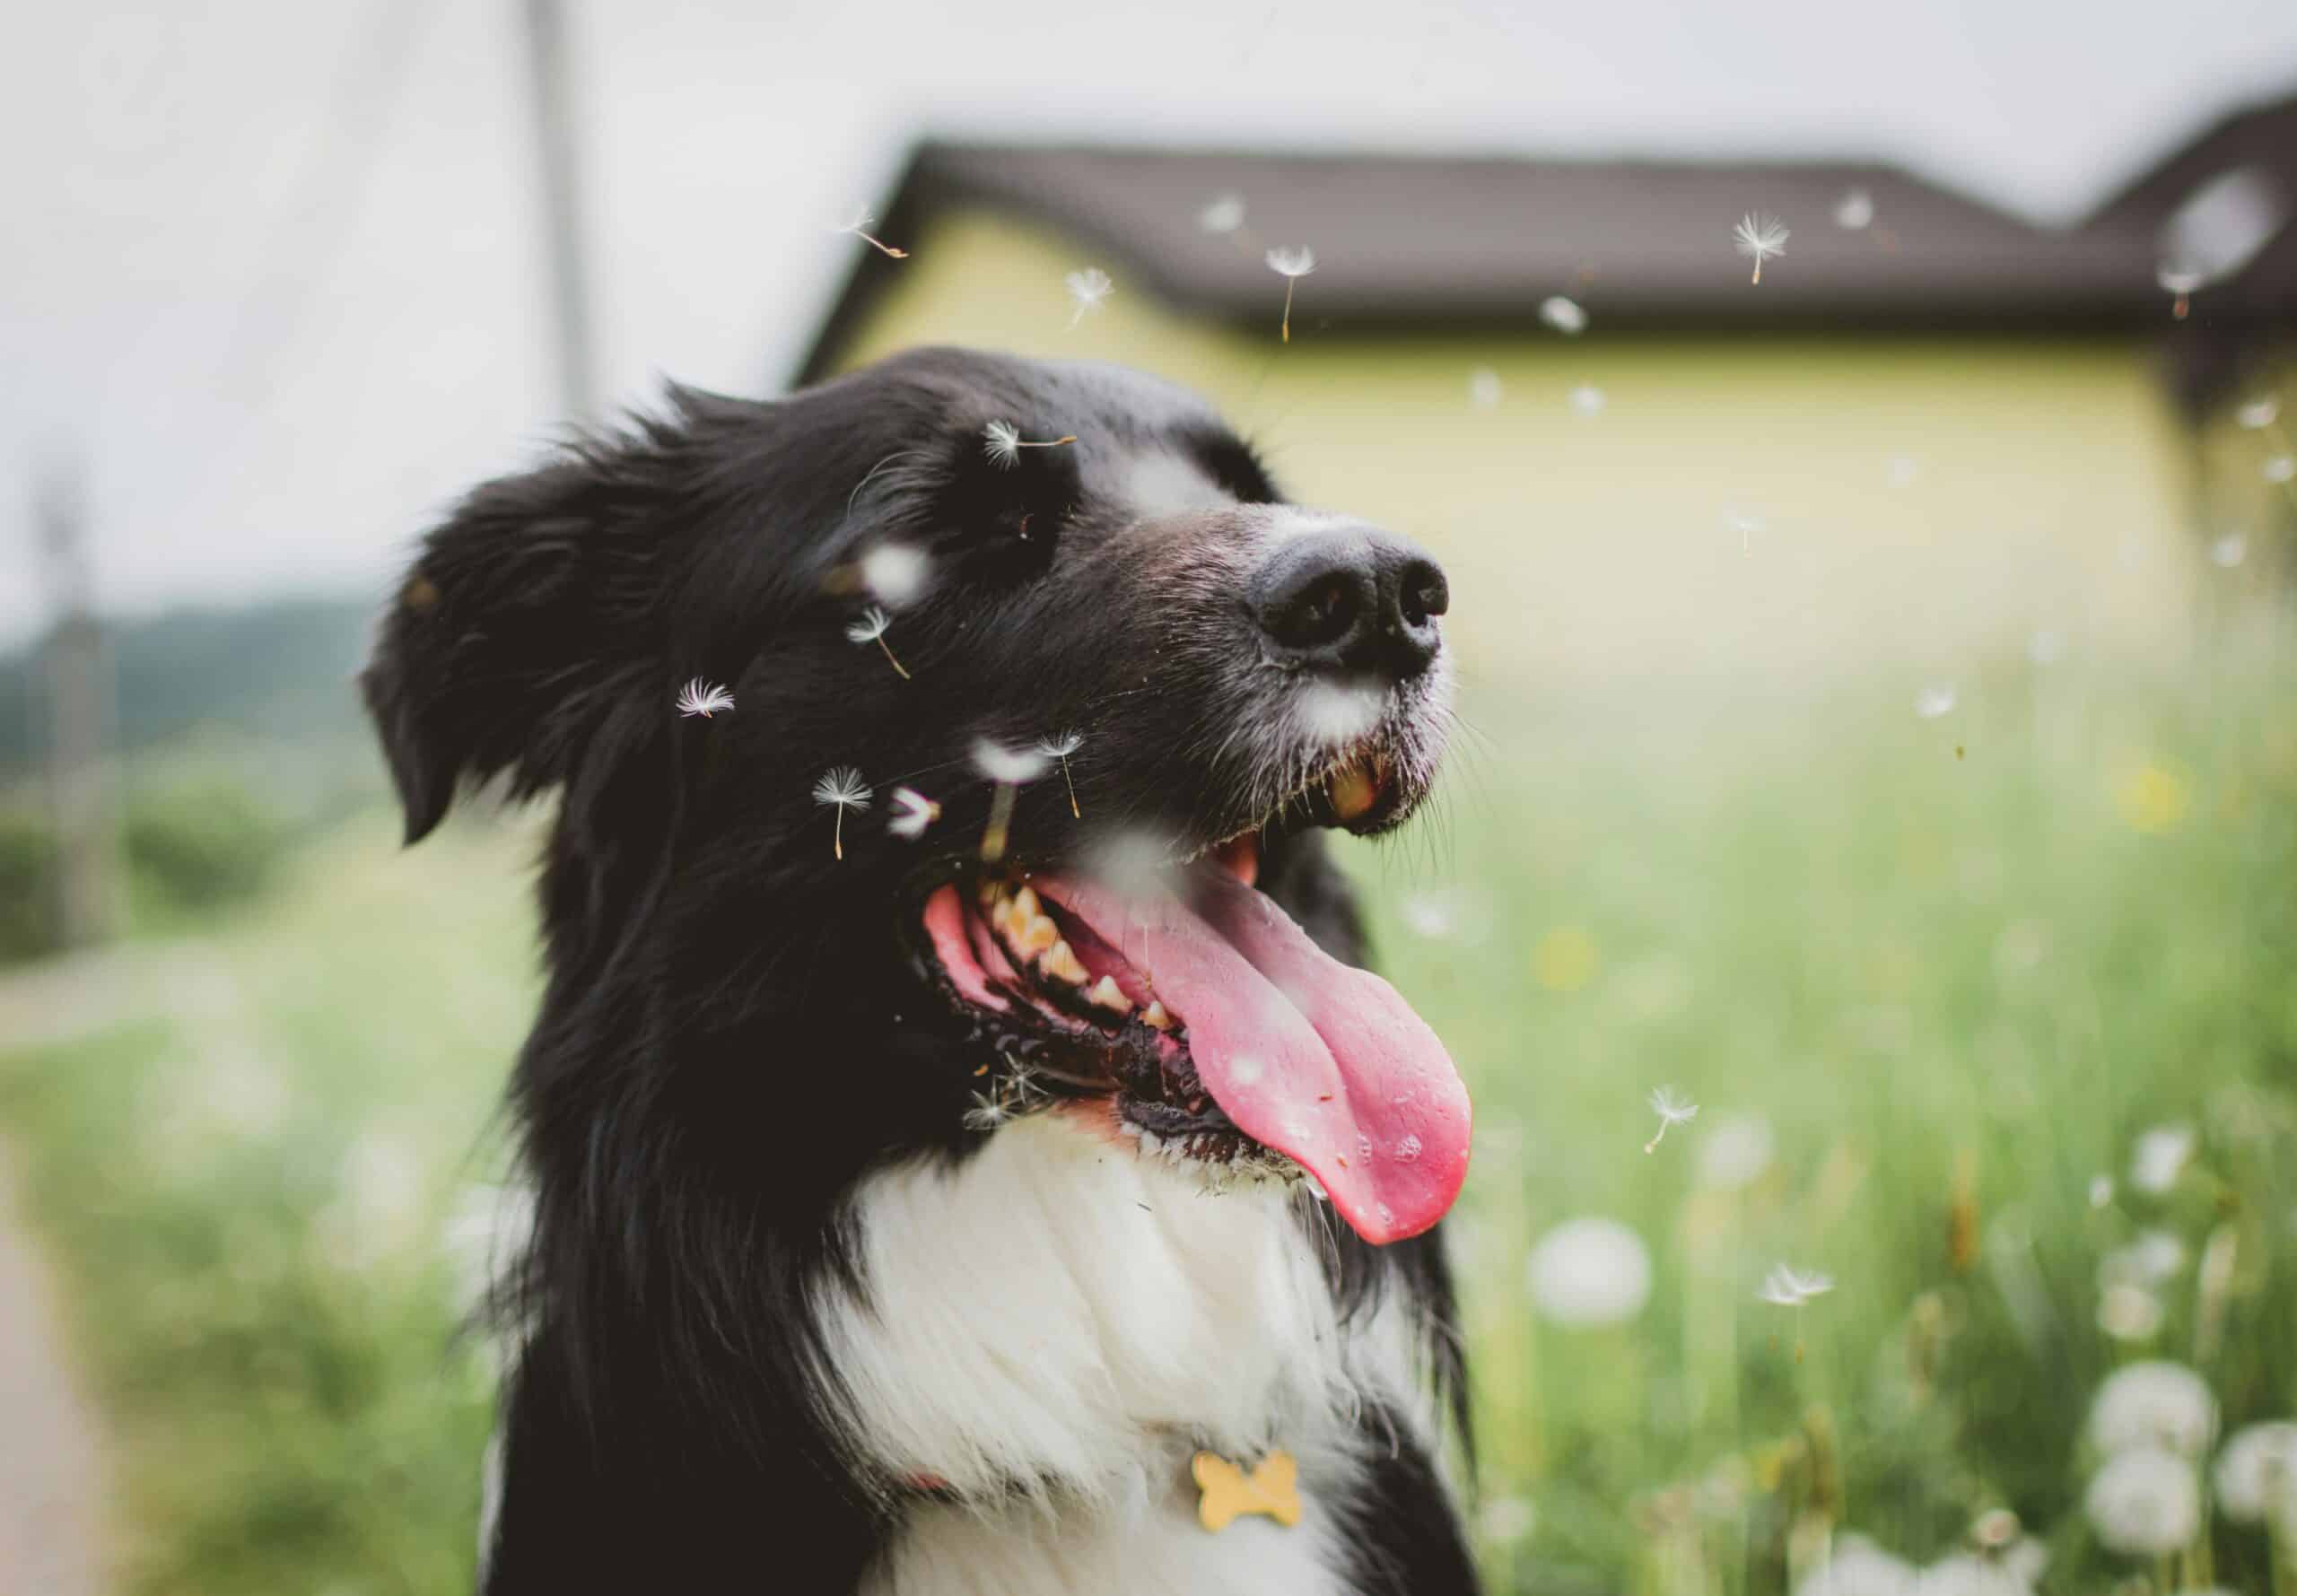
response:
[[[409,840],[466,783],[558,792],[549,983],[512,1082],[537,1224],[501,1304],[521,1353],[498,1596],[843,1591],[898,1532],[903,1497],[806,1373],[806,1300],[857,1275],[841,1203],[864,1173],[979,1144],[965,1020],[905,935],[921,882],[983,831],[972,742],[1091,728],[1082,824],[1059,778],[1020,795],[1015,854],[1036,863],[1114,827],[1201,845],[1261,818],[1231,735],[1254,703],[1204,643],[1229,625],[1204,572],[1236,514],[1139,526],[1084,448],[999,468],[990,420],[1169,448],[1277,503],[1171,388],[923,351],[774,404],[673,390],[659,418],[471,494],[384,618],[363,687]],[[887,540],[933,560],[889,634],[914,680],[843,636],[868,602],[857,560]],[[678,719],[696,675],[737,707]],[[829,765],[880,795],[848,815],[843,863],[809,797]],[[946,806],[923,843],[882,827],[900,781]],[[1362,960],[1316,831],[1270,834],[1263,886]],[[1456,1401],[1433,1235],[1328,1229],[1335,1291],[1426,1304]],[[1367,1490],[1364,1591],[1468,1589],[1426,1458],[1401,1449]]]

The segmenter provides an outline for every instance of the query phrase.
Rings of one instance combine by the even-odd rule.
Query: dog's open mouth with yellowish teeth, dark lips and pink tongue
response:
[[[1282,827],[1376,829],[1408,797],[1374,756],[1165,870],[988,868],[919,914],[944,994],[1006,1061],[990,1121],[1093,1105],[1144,1146],[1309,1173],[1369,1242],[1426,1231],[1468,1171],[1468,1093],[1378,976],[1256,889]]]

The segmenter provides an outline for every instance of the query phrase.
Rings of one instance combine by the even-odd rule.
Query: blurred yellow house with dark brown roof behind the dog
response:
[[[1486,675],[1957,673],[2173,648],[2198,524],[2286,526],[2212,468],[2260,480],[2214,418],[2297,326],[2290,204],[2297,99],[2070,230],[1858,163],[928,142],[910,257],[857,246],[797,379],[967,342],[1190,383],[1293,496],[1436,549]],[[1760,282],[1748,211],[1792,230]],[[1316,253],[1289,340],[1273,246]]]

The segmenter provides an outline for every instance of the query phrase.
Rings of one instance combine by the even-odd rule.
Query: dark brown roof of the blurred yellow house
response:
[[[1863,230],[1833,220],[1851,191],[1874,204]],[[1197,225],[1222,193],[1247,204],[1236,237]],[[1162,301],[1270,335],[1282,294],[1261,250],[1296,243],[1316,250],[1296,319],[1318,328],[1521,326],[1548,294],[1571,294],[1610,331],[2159,328],[2168,319],[2155,282],[2161,209],[2132,204],[2051,230],[1872,163],[926,142],[882,209],[884,232],[914,239],[937,211],[976,207],[1059,227]],[[1732,253],[1746,211],[1771,211],[1794,230],[1760,287]],[[894,271],[903,266],[857,250],[799,381],[834,365]],[[2297,294],[2246,310],[2288,324]]]

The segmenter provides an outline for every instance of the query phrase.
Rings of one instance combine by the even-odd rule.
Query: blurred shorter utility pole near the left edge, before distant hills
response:
[[[113,808],[113,661],[96,620],[87,494],[78,464],[55,464],[34,501],[55,613],[41,643],[48,689],[48,808],[55,827],[55,928],[64,946],[106,942],[119,923]]]

